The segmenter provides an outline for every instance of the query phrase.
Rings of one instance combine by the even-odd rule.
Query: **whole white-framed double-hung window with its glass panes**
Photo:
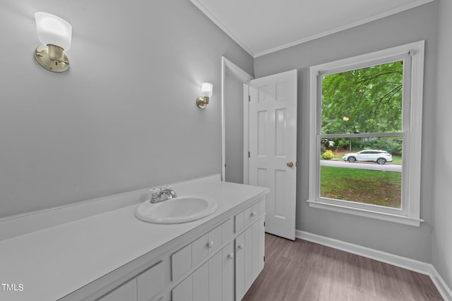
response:
[[[309,206],[420,226],[424,41],[310,68]]]

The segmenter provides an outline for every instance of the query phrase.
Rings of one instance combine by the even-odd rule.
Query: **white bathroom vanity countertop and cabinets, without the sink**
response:
[[[134,216],[138,202],[0,241],[0,300],[241,300],[263,269],[267,188],[208,177],[174,184],[218,209],[188,223]]]

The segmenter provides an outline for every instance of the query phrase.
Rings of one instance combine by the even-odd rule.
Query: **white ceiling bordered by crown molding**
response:
[[[257,57],[434,0],[190,0]]]

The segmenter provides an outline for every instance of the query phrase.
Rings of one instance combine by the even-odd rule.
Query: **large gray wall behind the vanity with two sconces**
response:
[[[73,26],[64,74],[36,11]],[[220,173],[221,56],[253,59],[188,0],[2,0],[0,39],[0,217]]]

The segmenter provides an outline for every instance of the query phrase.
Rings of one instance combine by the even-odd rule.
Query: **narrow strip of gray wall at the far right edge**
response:
[[[432,262],[452,288],[452,2],[439,2],[438,90],[436,96],[436,143],[434,177],[434,232]]]

